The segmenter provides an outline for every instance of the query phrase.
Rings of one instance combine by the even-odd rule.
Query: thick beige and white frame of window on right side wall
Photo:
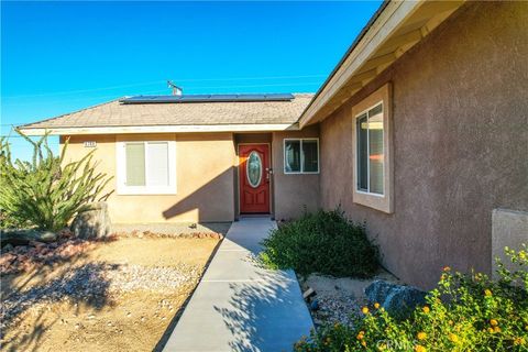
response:
[[[386,213],[394,212],[392,86],[386,84],[352,107],[352,201]],[[358,185],[358,118],[382,103],[383,110],[383,195],[361,190]],[[367,144],[369,145],[369,144]],[[370,176],[369,176],[370,188]]]

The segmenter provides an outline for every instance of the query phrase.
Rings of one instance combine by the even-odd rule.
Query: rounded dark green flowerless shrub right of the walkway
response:
[[[378,251],[366,238],[364,226],[349,221],[338,208],[305,212],[263,241],[261,258],[273,268],[297,273],[370,277],[378,268]]]

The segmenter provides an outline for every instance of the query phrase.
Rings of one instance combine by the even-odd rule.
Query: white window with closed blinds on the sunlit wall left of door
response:
[[[118,194],[156,195],[176,193],[174,141],[119,142]]]

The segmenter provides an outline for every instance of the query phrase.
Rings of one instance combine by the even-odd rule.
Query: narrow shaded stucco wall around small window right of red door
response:
[[[305,207],[310,211],[319,208],[319,174],[284,173],[284,139],[296,138],[319,138],[319,128],[310,127],[302,131],[273,133],[273,201],[277,220],[296,218],[302,213]],[[320,163],[321,157],[319,157],[319,168],[321,168]]]

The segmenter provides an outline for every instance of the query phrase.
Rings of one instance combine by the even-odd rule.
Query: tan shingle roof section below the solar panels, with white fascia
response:
[[[163,127],[167,132],[228,131],[230,127],[248,131],[285,130],[298,120],[312,97],[310,94],[296,94],[290,100],[178,103],[122,103],[113,100],[20,129],[28,134],[41,134],[45,130],[52,134],[127,133],[122,128],[133,132],[140,127],[148,127],[150,132],[160,132],[156,127]]]

